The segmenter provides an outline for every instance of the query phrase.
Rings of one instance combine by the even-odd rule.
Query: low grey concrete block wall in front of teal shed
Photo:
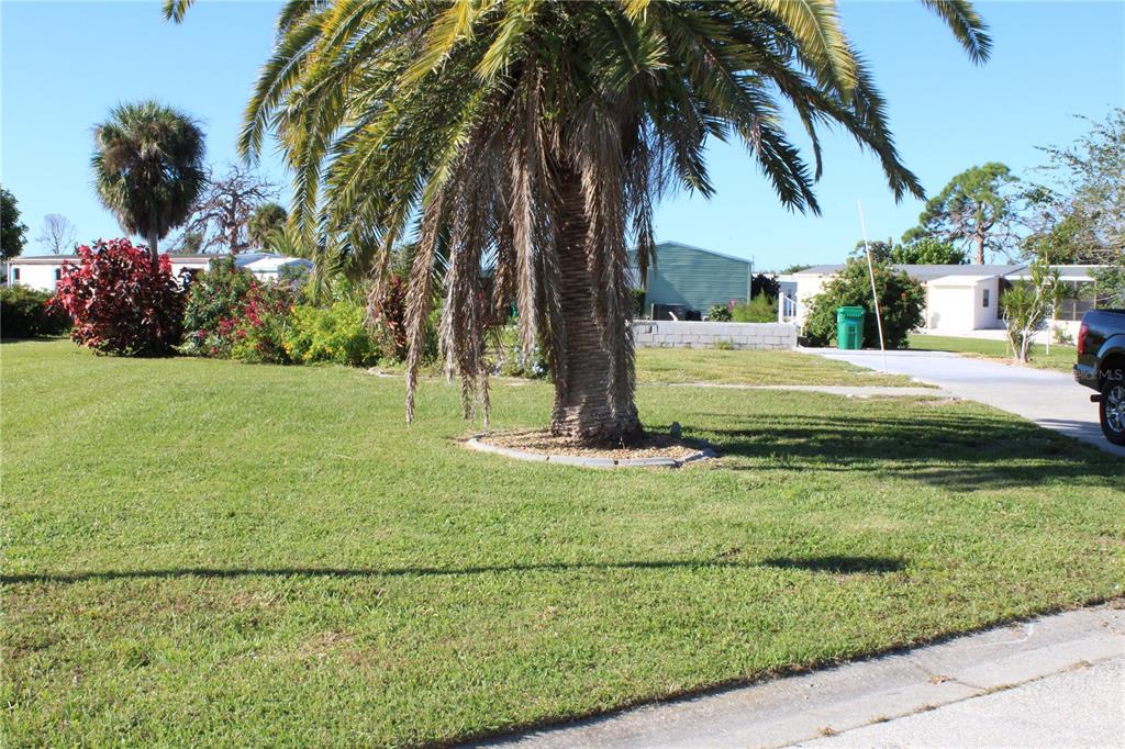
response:
[[[640,349],[718,349],[726,344],[747,351],[789,350],[796,348],[796,325],[639,319],[633,322],[633,339]]]

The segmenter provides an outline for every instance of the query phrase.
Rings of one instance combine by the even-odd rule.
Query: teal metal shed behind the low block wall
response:
[[[680,242],[656,245],[656,264],[648,269],[645,315],[654,305],[680,305],[706,314],[713,305],[749,298],[752,263]]]

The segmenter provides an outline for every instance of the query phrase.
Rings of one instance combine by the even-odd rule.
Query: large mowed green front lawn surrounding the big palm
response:
[[[452,742],[1125,581],[1120,460],[972,404],[642,387],[723,458],[597,471],[462,449],[442,382],[0,357],[4,746]]]

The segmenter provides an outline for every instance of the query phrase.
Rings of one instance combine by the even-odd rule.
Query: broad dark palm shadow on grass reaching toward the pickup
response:
[[[988,413],[919,413],[901,417],[713,414],[705,436],[736,470],[865,471],[954,491],[1038,489],[1044,481],[1122,488],[1125,463],[1032,422]],[[745,459],[745,460],[737,460]]]

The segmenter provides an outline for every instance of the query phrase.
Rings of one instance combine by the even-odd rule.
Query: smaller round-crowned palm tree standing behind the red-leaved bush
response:
[[[186,222],[207,180],[204,134],[187,115],[156,101],[120,105],[93,132],[98,198],[122,229],[158,244]]]

